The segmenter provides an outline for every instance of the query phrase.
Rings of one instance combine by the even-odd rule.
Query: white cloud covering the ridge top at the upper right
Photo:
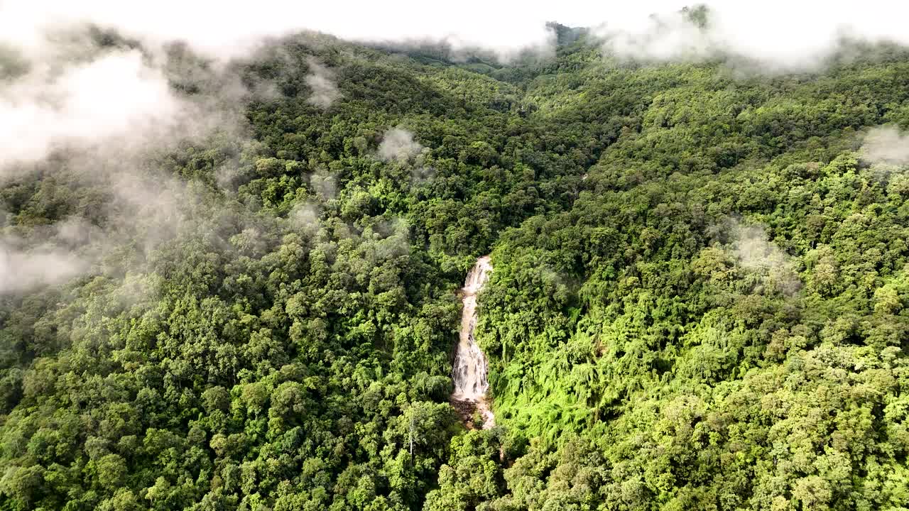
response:
[[[909,14],[909,6],[894,2],[871,0],[860,8],[834,2],[823,9],[782,0],[704,2],[702,20],[681,12],[684,4],[654,4],[649,15],[624,10],[604,18],[594,32],[619,56],[677,61],[722,53],[764,71],[820,68],[845,39],[909,44],[909,33],[899,21]]]

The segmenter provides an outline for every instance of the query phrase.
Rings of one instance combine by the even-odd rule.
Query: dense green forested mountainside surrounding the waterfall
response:
[[[175,94],[242,123],[6,173],[0,510],[909,508],[909,51],[554,28],[505,63],[175,45]],[[485,254],[480,430],[449,396]]]

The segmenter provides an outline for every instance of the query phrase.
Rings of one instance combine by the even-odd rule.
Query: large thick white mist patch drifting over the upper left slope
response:
[[[269,88],[250,89],[179,45],[145,47],[78,24],[30,28],[0,46],[0,185],[50,178],[60,194],[95,200],[53,225],[4,225],[0,296],[120,276],[133,257],[191,232],[199,189],[169,175],[166,155],[211,147],[216,134],[239,152],[243,105]]]

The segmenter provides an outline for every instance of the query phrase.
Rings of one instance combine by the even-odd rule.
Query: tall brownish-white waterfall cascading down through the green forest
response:
[[[476,260],[476,264],[464,280],[461,289],[461,301],[464,309],[461,313],[461,334],[454,356],[454,394],[455,403],[470,405],[483,417],[483,427],[494,426],[495,416],[486,403],[486,391],[489,382],[486,380],[486,357],[480,346],[474,340],[474,327],[476,326],[476,295],[483,289],[489,272],[493,270],[489,255],[484,255]]]

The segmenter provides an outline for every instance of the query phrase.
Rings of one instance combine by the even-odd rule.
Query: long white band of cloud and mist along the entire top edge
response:
[[[698,27],[678,12],[680,1],[635,3],[479,2],[448,5],[444,12],[415,0],[348,5],[290,4],[263,0],[249,5],[162,2],[128,5],[113,0],[59,3],[16,0],[0,6],[0,41],[46,48],[41,34],[61,25],[93,23],[114,28],[149,45],[180,40],[219,58],[245,55],[264,37],[315,30],[356,41],[445,41],[455,48],[479,46],[500,55],[552,44],[548,21],[589,26],[618,55],[675,59],[705,57],[718,49],[764,65],[797,68],[815,65],[835,51],[844,36],[870,42],[909,43],[904,19],[909,6],[872,0],[810,3],[769,0],[707,2],[709,22]]]

